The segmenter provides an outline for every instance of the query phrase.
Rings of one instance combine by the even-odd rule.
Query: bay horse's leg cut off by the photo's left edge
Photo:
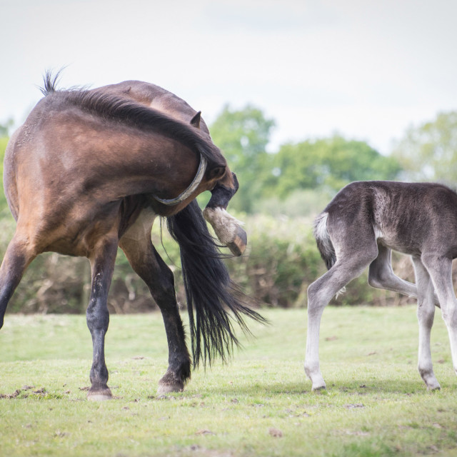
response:
[[[17,232],[10,241],[0,267],[0,328],[3,326],[6,306],[21,281],[27,266],[35,258],[26,244],[19,241]]]

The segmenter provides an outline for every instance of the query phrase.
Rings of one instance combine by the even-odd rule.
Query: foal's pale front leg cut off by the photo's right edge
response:
[[[441,313],[451,342],[452,363],[457,374],[457,299],[452,284],[452,259],[426,254],[423,254],[421,259],[438,294]]]

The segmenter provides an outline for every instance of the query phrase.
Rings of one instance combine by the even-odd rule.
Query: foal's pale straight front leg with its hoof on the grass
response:
[[[430,332],[435,316],[435,305],[433,304],[433,283],[428,271],[423,266],[421,258],[411,257],[416,272],[416,284],[418,292],[417,317],[419,321],[419,355],[418,370],[427,388],[435,390],[440,388],[433,373],[433,365],[430,352]]]

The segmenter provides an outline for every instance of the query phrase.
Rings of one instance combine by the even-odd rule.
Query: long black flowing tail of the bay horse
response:
[[[243,315],[261,323],[266,323],[266,319],[241,301],[242,293],[231,281],[222,261],[223,255],[195,200],[169,217],[167,224],[181,250],[194,366],[202,357],[204,364],[206,361],[211,363],[218,355],[225,361],[231,354],[233,343],[239,346],[233,332],[233,321],[248,332]]]

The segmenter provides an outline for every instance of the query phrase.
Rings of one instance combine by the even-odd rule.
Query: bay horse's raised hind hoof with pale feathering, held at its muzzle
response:
[[[211,191],[211,199],[204,209],[204,216],[214,229],[216,236],[224,246],[227,246],[235,256],[241,256],[246,249],[248,238],[246,231],[241,229],[242,223],[231,216],[227,205],[238,190],[236,174],[233,176],[233,187],[216,184]]]

